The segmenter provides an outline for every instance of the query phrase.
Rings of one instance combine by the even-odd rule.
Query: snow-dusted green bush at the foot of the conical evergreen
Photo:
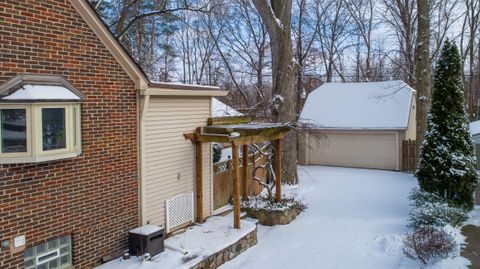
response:
[[[439,196],[418,189],[414,189],[410,194],[410,205],[412,211],[409,226],[413,228],[443,227],[448,224],[457,227],[468,219],[465,210],[450,207]]]

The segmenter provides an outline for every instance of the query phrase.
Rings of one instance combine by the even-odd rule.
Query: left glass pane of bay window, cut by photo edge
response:
[[[27,152],[27,111],[1,109],[2,153]]]

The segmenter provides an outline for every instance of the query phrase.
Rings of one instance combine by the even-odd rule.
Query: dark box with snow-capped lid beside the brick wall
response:
[[[156,225],[145,225],[128,233],[128,252],[133,256],[150,254],[151,257],[163,252],[164,229]]]

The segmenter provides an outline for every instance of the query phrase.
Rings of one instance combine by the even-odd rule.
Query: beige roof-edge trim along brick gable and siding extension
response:
[[[225,96],[214,86],[151,82],[87,0],[69,0],[144,95]]]

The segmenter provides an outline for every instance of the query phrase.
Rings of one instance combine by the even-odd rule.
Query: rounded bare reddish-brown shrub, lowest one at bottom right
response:
[[[408,258],[420,260],[423,264],[447,258],[456,248],[455,240],[450,234],[434,227],[422,227],[407,234],[403,245],[403,253]]]

